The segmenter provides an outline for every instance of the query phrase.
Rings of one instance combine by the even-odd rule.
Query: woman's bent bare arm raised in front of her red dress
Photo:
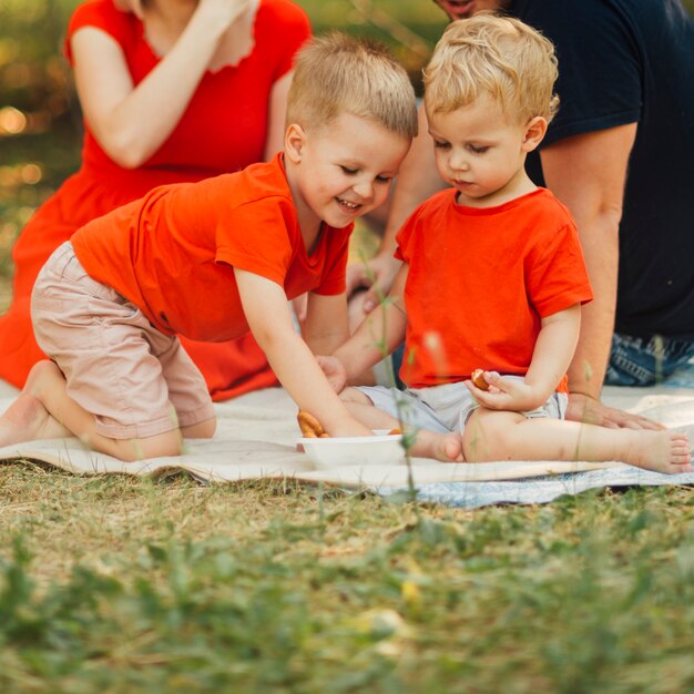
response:
[[[251,0],[201,0],[181,35],[140,84],[120,44],[93,27],[74,32],[71,49],[82,111],[115,163],[142,165],[171,135],[224,32]]]

